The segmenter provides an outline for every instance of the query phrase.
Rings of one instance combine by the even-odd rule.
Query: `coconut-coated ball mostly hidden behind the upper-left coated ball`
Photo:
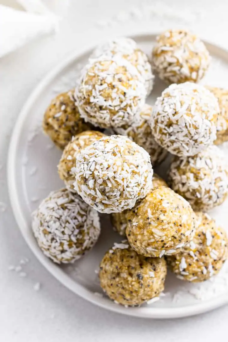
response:
[[[143,77],[147,96],[153,88],[154,75],[147,55],[138,48],[136,42],[131,38],[117,38],[98,46],[90,58],[105,58],[118,55],[125,58],[134,65],[139,74]]]

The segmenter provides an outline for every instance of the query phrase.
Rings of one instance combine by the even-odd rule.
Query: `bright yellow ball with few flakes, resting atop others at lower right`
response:
[[[159,186],[128,215],[126,236],[145,257],[177,254],[195,234],[196,215],[190,204],[170,188]]]

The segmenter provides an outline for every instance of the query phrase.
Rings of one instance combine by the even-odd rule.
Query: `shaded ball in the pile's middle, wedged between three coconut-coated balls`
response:
[[[139,146],[142,146],[150,155],[152,166],[159,165],[167,156],[167,151],[156,143],[150,128],[152,107],[145,104],[140,113],[136,114],[131,124],[116,128],[115,132],[128,136]]]

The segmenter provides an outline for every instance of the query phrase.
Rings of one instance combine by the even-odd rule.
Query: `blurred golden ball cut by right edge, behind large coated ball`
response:
[[[219,115],[217,124],[217,139],[215,145],[220,145],[228,141],[228,90],[223,88],[206,87],[217,98],[219,105]]]

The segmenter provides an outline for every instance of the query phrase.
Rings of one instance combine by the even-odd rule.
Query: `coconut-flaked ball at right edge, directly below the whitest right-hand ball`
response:
[[[175,157],[169,172],[170,187],[194,210],[208,211],[227,197],[228,167],[215,145],[193,157]]]

